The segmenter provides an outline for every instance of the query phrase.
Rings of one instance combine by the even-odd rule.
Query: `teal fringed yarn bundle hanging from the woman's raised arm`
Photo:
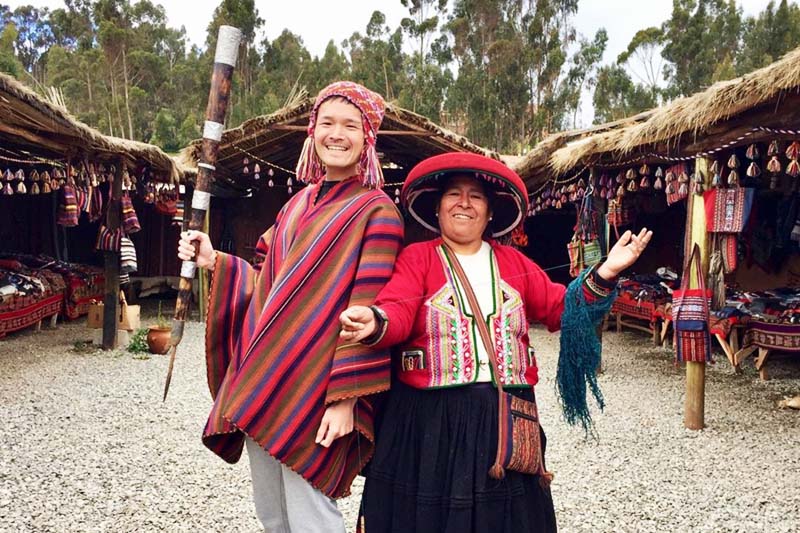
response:
[[[584,270],[569,284],[564,296],[556,386],[567,423],[573,426],[580,423],[587,434],[594,435],[594,422],[586,402],[586,385],[589,385],[589,390],[602,411],[605,402],[597,384],[597,369],[602,350],[595,329],[611,310],[617,291],[594,303],[587,303],[583,282],[590,273],[591,269]]]

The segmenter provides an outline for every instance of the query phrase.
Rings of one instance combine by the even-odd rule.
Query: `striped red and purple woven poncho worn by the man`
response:
[[[370,305],[402,242],[397,208],[357,180],[315,203],[306,187],[259,240],[258,268],[218,253],[206,328],[214,406],[203,442],[234,463],[245,434],[332,498],[346,496],[373,451],[369,395],[388,389],[387,350],[339,339],[339,314]],[[355,430],[314,443],[325,408],[358,396]]]

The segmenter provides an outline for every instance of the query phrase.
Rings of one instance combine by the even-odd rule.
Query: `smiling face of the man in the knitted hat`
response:
[[[361,111],[342,98],[325,100],[317,112],[314,147],[326,167],[327,179],[354,176],[364,149]]]

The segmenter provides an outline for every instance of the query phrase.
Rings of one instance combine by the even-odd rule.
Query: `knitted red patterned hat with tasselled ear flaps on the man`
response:
[[[383,97],[363,85],[352,81],[337,81],[322,89],[317,95],[311,115],[308,118],[308,137],[303,143],[303,151],[297,161],[297,179],[305,183],[317,183],[325,174],[324,165],[314,148],[314,128],[317,124],[319,106],[328,98],[340,96],[361,111],[364,126],[364,150],[359,161],[361,183],[370,189],[383,186],[383,171],[375,150],[378,128],[383,121],[386,103]]]

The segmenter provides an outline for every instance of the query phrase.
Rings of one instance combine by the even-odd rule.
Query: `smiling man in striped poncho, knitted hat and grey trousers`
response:
[[[181,236],[178,255],[213,272],[206,325],[214,406],[203,442],[230,463],[246,443],[256,511],[270,532],[344,531],[333,498],[373,452],[370,395],[388,389],[388,351],[339,338],[338,316],[369,305],[392,273],[402,219],[383,184],[380,95],[323,89],[297,165],[309,183],[257,245],[256,267]],[[353,431],[355,430],[355,431]]]

